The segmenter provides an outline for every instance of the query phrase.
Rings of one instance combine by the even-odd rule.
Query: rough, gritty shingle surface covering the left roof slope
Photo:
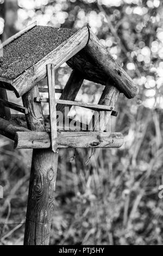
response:
[[[75,29],[34,27],[4,46],[0,77],[14,80],[76,32]]]

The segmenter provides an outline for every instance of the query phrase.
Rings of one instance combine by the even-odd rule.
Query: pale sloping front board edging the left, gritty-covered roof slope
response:
[[[35,83],[46,77],[46,65],[53,63],[55,69],[58,69],[63,63],[82,50],[89,40],[89,32],[87,27],[80,29],[76,34],[47,54],[43,59],[37,62],[32,68],[26,70],[22,75],[18,76],[11,82],[12,90],[17,97],[28,92]],[[22,86],[23,84],[23,86]]]

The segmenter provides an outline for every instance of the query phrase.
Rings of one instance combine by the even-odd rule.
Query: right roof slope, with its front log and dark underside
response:
[[[129,99],[136,96],[139,88],[101,44],[91,30],[86,47],[67,61],[67,64],[81,72],[86,80],[105,86],[109,80],[121,93]]]

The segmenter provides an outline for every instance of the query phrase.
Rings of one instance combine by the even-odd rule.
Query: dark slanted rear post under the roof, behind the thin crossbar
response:
[[[73,70],[71,76],[68,79],[66,86],[60,96],[60,100],[70,100],[74,101],[76,96],[83,84],[83,76],[80,72]],[[65,115],[65,107],[70,105],[57,104],[57,111],[61,111]],[[71,109],[71,106],[70,106]]]

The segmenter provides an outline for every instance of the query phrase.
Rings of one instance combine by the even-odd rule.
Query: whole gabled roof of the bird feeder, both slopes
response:
[[[131,78],[102,46],[89,27],[52,28],[31,25],[3,43],[0,58],[0,86],[17,96],[28,92],[46,77],[46,65],[57,69],[67,62],[87,80],[106,85],[108,81],[127,97],[138,89]]]

